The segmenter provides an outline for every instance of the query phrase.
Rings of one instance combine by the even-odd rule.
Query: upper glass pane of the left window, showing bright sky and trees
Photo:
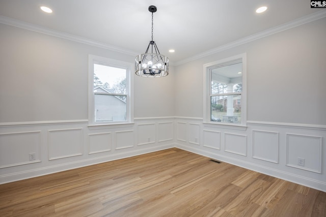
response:
[[[94,64],[94,92],[126,94],[126,73],[126,69]]]

